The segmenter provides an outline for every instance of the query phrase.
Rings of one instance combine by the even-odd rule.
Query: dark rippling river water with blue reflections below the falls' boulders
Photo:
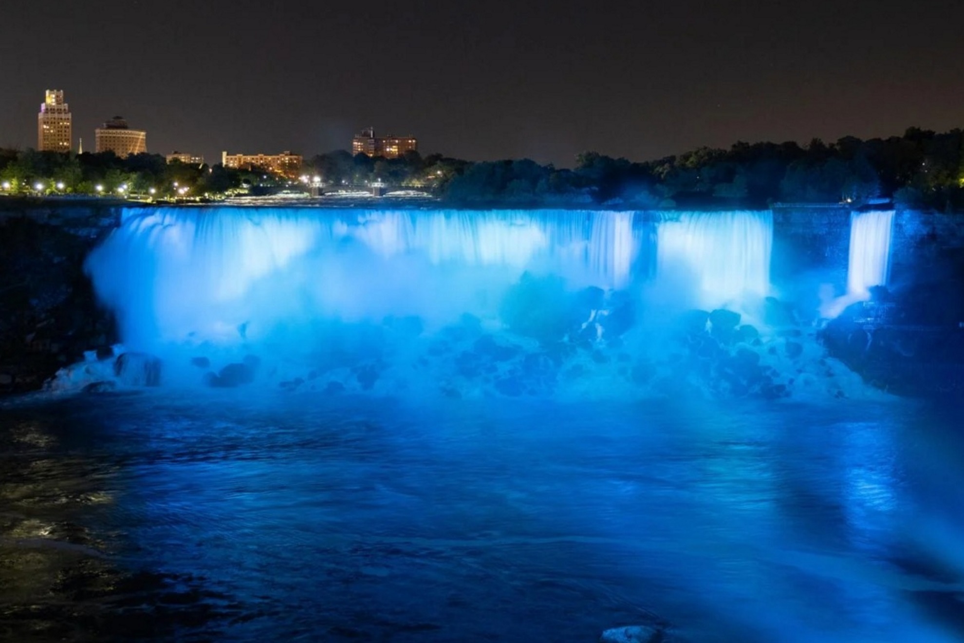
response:
[[[964,423],[244,390],[0,409],[0,640],[964,640]]]

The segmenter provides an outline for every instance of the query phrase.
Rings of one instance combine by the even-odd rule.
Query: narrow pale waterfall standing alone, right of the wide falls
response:
[[[890,273],[894,210],[850,214],[847,295],[870,299],[870,288],[886,285]]]

